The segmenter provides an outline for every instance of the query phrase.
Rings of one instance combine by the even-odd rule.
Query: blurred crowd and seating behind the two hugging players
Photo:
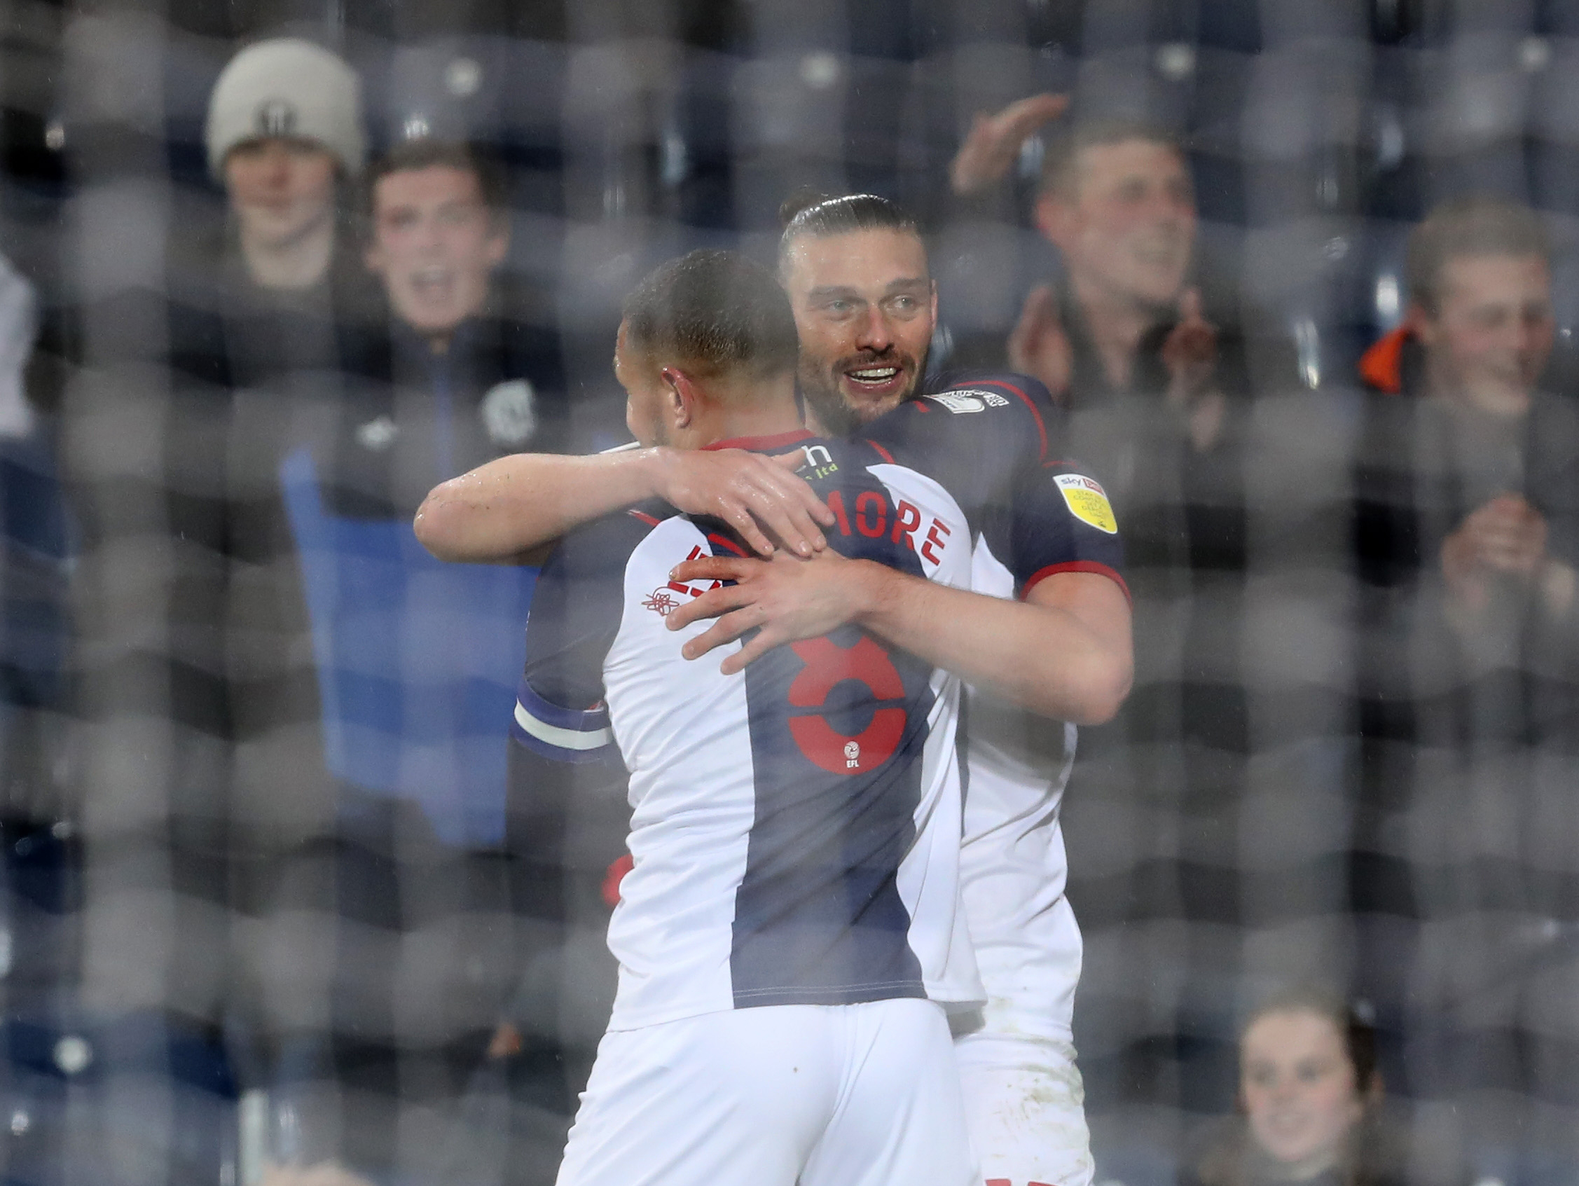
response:
[[[1123,527],[1099,1181],[1573,1180],[1579,3],[5,13],[6,1181],[553,1180],[628,809],[507,794],[535,570],[412,513],[627,441],[625,292],[807,186]]]

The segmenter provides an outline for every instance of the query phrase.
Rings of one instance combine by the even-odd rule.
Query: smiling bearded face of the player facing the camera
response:
[[[801,335],[801,392],[824,431],[842,436],[916,395],[938,316],[917,235],[801,235],[783,281]]]

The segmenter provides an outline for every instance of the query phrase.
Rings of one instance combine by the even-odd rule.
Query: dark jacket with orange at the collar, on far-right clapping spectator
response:
[[[1407,328],[1378,341],[1361,374],[1352,546],[1367,731],[1437,742],[1464,730],[1554,739],[1571,720],[1573,625],[1549,621],[1532,591],[1510,580],[1484,630],[1453,632],[1442,546],[1473,510],[1516,493],[1544,516],[1547,554],[1579,565],[1579,403],[1536,390],[1530,411],[1510,420],[1434,400]],[[1491,684],[1494,696],[1475,695]],[[1483,703],[1472,707],[1465,696]],[[1492,703],[1502,707],[1486,715]]]

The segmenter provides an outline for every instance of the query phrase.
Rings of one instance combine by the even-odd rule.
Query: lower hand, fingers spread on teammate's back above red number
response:
[[[777,553],[771,561],[733,556],[699,556],[676,565],[673,580],[684,583],[734,581],[704,592],[674,610],[669,630],[717,617],[707,630],[685,643],[685,659],[701,659],[714,647],[733,643],[761,627],[718,668],[731,676],[752,660],[785,643],[818,638],[856,619],[872,595],[870,561],[850,561],[832,548],[812,559]]]

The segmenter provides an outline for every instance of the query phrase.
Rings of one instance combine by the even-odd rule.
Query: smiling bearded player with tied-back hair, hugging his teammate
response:
[[[1048,406],[1041,384],[1012,374],[925,390],[936,292],[916,223],[897,204],[853,196],[788,207],[786,215],[778,272],[815,428],[872,433],[884,414],[914,403],[910,420],[932,425],[928,431],[965,431],[1006,406]],[[1037,472],[1050,485],[1004,491],[990,518],[1014,526],[992,542],[987,532],[974,537],[970,594],[897,572],[793,561],[816,553],[824,532],[837,529],[835,516],[782,466],[726,453],[507,458],[436,488],[417,531],[447,559],[494,559],[658,494],[682,510],[711,510],[774,556],[701,556],[676,567],[681,583],[729,583],[682,599],[668,614],[671,629],[718,617],[688,640],[688,659],[728,646],[725,670],[741,670],[840,624],[881,624],[886,641],[974,684],[962,876],[990,1001],[955,1019],[973,1142],[988,1183],[1083,1186],[1090,1140],[1069,1031],[1080,936],[1063,895],[1056,823],[1074,725],[1047,719],[1101,723],[1116,712],[1132,670],[1129,605],[1112,572],[1078,561],[1025,572],[1017,562],[1045,537],[1053,515],[1118,532],[1101,486],[1058,461],[1047,422],[1028,422],[1026,431],[1042,437]],[[968,464],[1001,464],[992,453],[970,456],[966,439],[960,452]],[[774,551],[753,515],[785,550]],[[734,651],[750,630],[756,633]],[[1023,1117],[1012,1129],[1004,1105]]]

